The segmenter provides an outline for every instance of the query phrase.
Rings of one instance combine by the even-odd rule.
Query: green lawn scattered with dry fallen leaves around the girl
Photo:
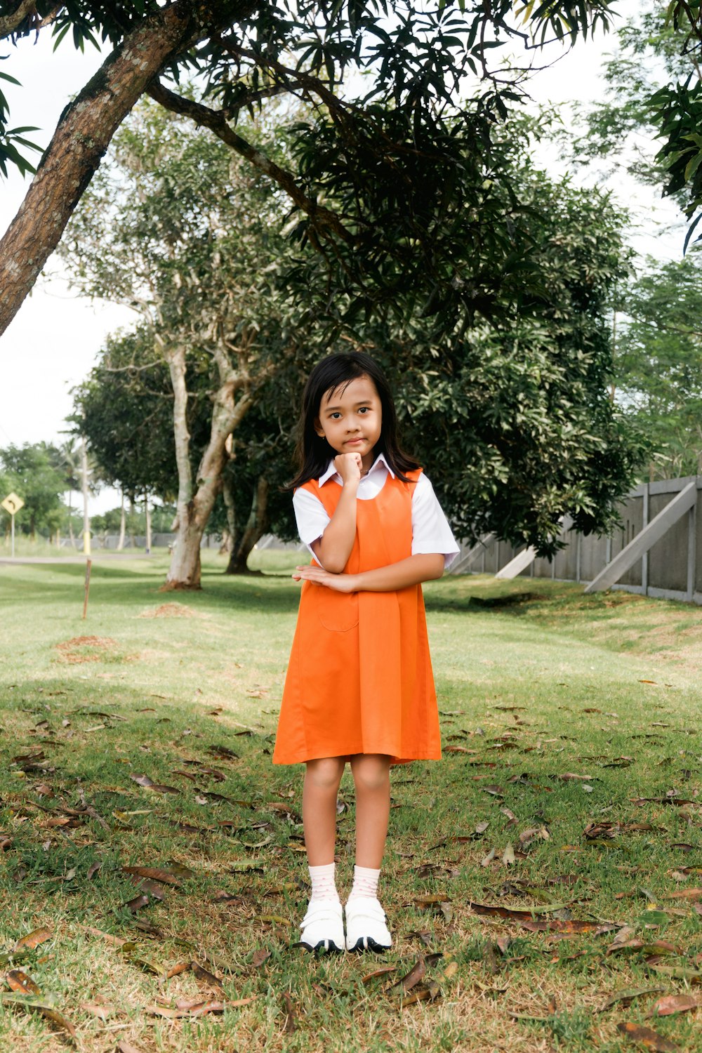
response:
[[[206,553],[205,589],[178,596],[158,593],[165,555],[97,560],[86,621],[80,565],[0,567],[0,1049],[65,1049],[39,1005],[89,1053],[615,1053],[624,1024],[699,1049],[700,1010],[648,1014],[702,990],[702,893],[675,895],[702,886],[702,611],[526,578],[427,585],[445,756],[394,772],[395,946],[315,958],[292,946],[301,770],[270,764],[298,557],[258,558],[265,576],[232,579]],[[347,890],[347,776],[340,809]],[[166,875],[140,887],[124,867]],[[390,985],[420,958],[403,997]],[[8,1000],[17,970],[34,1009]],[[223,1012],[177,1008],[213,999]]]

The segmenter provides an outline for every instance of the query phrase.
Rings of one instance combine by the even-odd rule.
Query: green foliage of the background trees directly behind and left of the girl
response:
[[[517,125],[505,157],[525,137]],[[294,535],[280,488],[292,472],[301,385],[313,361],[352,345],[372,349],[394,378],[406,441],[462,536],[494,531],[547,552],[566,512],[586,531],[610,523],[641,449],[608,398],[607,310],[627,262],[623,218],[605,198],[550,183],[513,157],[509,181],[492,193],[510,242],[527,254],[529,284],[496,299],[489,324],[476,315],[468,327],[456,321],[447,337],[441,329],[450,306],[442,305],[438,329],[412,289],[367,314],[354,309],[350,289],[329,303],[319,254],[281,239],[269,185],[252,183],[215,140],[142,107],[116,147],[117,163],[88,191],[65,249],[82,287],[136,304],[147,318],[109,341],[78,395],[112,481],[131,478],[129,486],[166,499],[175,493],[172,393],[160,349],[178,341],[187,347],[197,465],[221,382],[210,334],[225,291],[230,331],[255,334],[246,359],[255,404],[226,468],[239,517],[264,474],[275,530]],[[456,218],[462,229],[464,217]],[[485,257],[482,272],[498,270],[500,258]],[[221,506],[216,515],[221,530]]]

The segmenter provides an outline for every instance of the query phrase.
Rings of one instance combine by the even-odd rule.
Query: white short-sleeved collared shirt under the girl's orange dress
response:
[[[379,454],[368,474],[364,475],[359,483],[358,500],[370,501],[377,497],[388,475],[395,478],[385,455]],[[322,486],[327,479],[335,479],[339,483],[342,481],[334,461],[329,461],[326,472],[319,477],[319,485]],[[302,488],[296,490],[293,495],[293,508],[300,540],[307,545],[319,562],[312,551],[312,543],[322,536],[329,522],[326,509],[318,497]],[[416,556],[419,553],[430,552],[440,552],[444,557],[444,567],[449,567],[459,548],[434,493],[434,486],[422,472],[412,495],[412,554]]]

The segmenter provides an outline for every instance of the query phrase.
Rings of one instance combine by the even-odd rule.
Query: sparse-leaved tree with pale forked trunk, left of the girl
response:
[[[174,394],[167,442],[178,465],[178,538],[166,587],[199,588],[200,543],[222,486],[227,437],[266,377],[286,358],[304,358],[302,333],[290,335],[288,326],[285,336],[283,297],[266,277],[284,251],[282,211],[267,180],[252,178],[221,143],[154,104],[141,107],[115,144],[115,161],[88,191],[64,252],[85,292],[127,303],[141,318],[119,342],[119,364],[104,360],[102,369],[132,373],[138,390],[142,363],[166,367],[148,380],[168,376]],[[129,355],[137,345],[143,354],[135,367]],[[206,415],[188,414],[196,392],[206,399]],[[93,434],[133,434],[134,409],[124,409],[126,417],[117,402],[101,408]],[[194,444],[195,420],[206,420],[207,439]],[[148,444],[162,440],[154,435]],[[134,454],[111,445],[101,442],[103,460],[127,491],[127,478],[143,483],[167,462],[146,444]]]

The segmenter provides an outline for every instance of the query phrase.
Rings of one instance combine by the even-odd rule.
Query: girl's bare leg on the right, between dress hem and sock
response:
[[[390,814],[390,758],[383,753],[358,753],[350,766],[356,786],[356,865],[377,870]]]

